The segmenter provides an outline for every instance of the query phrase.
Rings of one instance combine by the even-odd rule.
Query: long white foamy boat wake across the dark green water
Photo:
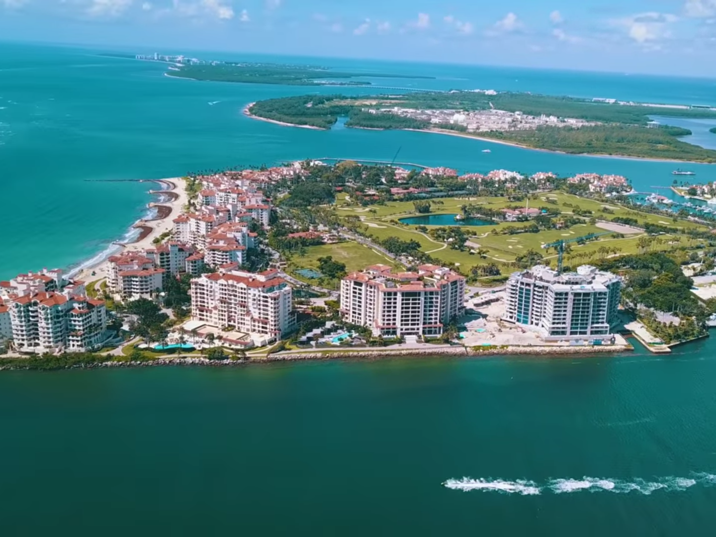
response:
[[[664,492],[677,492],[687,490],[694,485],[716,485],[716,475],[709,473],[693,474],[690,478],[665,477],[649,481],[641,478],[634,480],[620,480],[611,478],[581,478],[581,479],[551,479],[545,483],[536,483],[530,480],[505,481],[488,479],[448,479],[442,486],[453,490],[470,492],[481,490],[483,492],[496,492],[503,494],[538,495],[542,493],[564,494],[576,492],[612,492],[637,493],[649,495],[657,490]]]

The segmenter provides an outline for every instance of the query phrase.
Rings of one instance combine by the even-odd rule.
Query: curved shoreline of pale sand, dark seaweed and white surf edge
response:
[[[142,180],[142,182],[160,185],[160,190],[148,191],[150,196],[158,196],[158,201],[146,205],[151,212],[132,223],[122,238],[112,241],[95,256],[70,268],[67,275],[84,282],[105,279],[108,276],[107,259],[110,256],[120,251],[142,250],[155,246],[154,239],[173,229],[173,218],[183,211],[184,205],[188,202],[184,189],[178,188],[181,181],[183,178],[179,177]]]

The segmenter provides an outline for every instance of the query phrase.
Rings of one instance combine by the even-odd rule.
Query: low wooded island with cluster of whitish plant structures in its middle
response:
[[[345,117],[346,127],[439,132],[563,153],[716,163],[716,150],[679,140],[690,130],[649,119],[716,117],[716,109],[702,107],[486,90],[282,97],[252,103],[246,113],[322,129]]]

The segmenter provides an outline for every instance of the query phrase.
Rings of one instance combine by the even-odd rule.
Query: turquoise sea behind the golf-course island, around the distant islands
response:
[[[676,167],[558,155],[423,132],[281,127],[251,120],[241,110],[260,99],[337,89],[171,79],[163,76],[161,64],[100,57],[97,52],[0,44],[0,181],[4,200],[10,200],[0,211],[0,226],[10,230],[4,236],[0,278],[86,260],[125,236],[130,224],[145,213],[150,186],[87,180],[175,177],[193,170],[307,157],[392,160],[399,147],[400,160],[461,171],[619,173],[629,177],[637,190],[671,184]],[[357,60],[322,63],[326,62],[365,72],[393,69],[437,77],[374,81],[400,82],[402,87],[493,87],[698,104],[709,103],[716,95],[713,79]],[[487,148],[492,153],[482,153]],[[699,181],[716,180],[716,166],[690,168]]]

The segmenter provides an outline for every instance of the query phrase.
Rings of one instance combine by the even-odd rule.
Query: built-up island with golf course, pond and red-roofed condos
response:
[[[0,369],[625,352],[621,326],[670,352],[716,322],[715,213],[619,175],[305,160],[159,183],[135,241],[0,282]],[[526,285],[534,316],[589,289],[591,321],[524,316]],[[420,319],[384,318],[395,293]]]

